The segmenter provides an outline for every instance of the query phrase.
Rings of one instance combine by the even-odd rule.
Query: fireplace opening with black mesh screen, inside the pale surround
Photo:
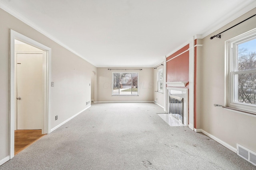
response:
[[[183,123],[183,98],[169,95],[169,114]]]

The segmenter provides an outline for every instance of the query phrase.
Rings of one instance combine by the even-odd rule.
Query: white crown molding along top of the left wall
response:
[[[2,2],[0,2],[0,8],[2,8],[2,10],[8,12],[9,14],[11,14],[12,16],[14,16],[15,18],[17,18],[18,20],[26,23],[27,25],[29,25],[30,27],[36,29],[36,31],[42,33],[43,35],[45,35],[46,37],[48,37],[49,39],[51,39],[52,41],[54,41],[55,43],[61,45],[62,47],[64,47],[65,49],[67,49],[68,51],[70,51],[71,53],[74,53],[75,55],[77,55],[78,57],[81,57],[82,59],[84,59],[85,61],[87,61],[88,63],[92,64],[92,62],[90,62],[90,60],[86,59],[85,57],[83,57],[82,55],[76,53],[74,50],[72,50],[71,48],[69,48],[67,45],[63,44],[60,40],[56,39],[54,36],[52,36],[50,33],[44,31],[43,29],[41,29],[38,25],[34,24],[32,21],[28,20],[28,18],[24,17],[23,15],[21,15],[20,13],[16,12],[15,10],[12,10],[11,8],[7,7],[6,5],[4,5]],[[94,65],[94,64],[92,64]],[[96,66],[96,65],[94,65]]]

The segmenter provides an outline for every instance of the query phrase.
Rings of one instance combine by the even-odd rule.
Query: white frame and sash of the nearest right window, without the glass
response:
[[[237,75],[236,77],[238,77],[239,74],[256,72],[256,69],[241,70],[241,71],[236,70],[236,66],[237,66],[236,56],[238,54],[238,48],[237,48],[238,45],[245,43],[247,41],[250,41],[252,39],[256,39],[256,28],[250,31],[247,31],[246,33],[243,33],[241,35],[238,35],[232,39],[229,39],[228,41],[225,41],[225,50],[226,50],[226,57],[225,57],[226,103],[225,103],[225,106],[255,113],[256,105],[236,102],[238,97],[238,94],[237,94],[238,78],[235,78],[235,75]]]

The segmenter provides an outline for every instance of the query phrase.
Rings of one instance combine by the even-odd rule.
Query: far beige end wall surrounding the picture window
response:
[[[153,101],[153,68],[113,68],[113,69],[142,69],[142,70],[108,70],[97,68],[97,102],[152,102]],[[112,96],[112,72],[138,72],[139,96]]]

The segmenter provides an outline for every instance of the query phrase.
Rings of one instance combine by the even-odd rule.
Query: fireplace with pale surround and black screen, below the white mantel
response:
[[[168,113],[188,126],[188,89],[167,87]]]

